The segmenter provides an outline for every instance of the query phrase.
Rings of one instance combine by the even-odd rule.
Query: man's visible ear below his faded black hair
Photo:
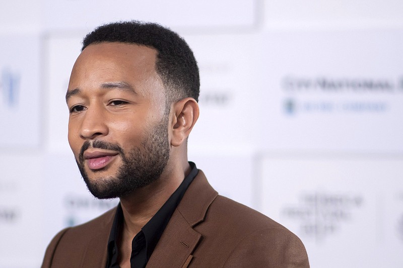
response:
[[[171,108],[171,145],[179,146],[189,136],[199,115],[197,102],[193,98],[185,98],[173,104]]]

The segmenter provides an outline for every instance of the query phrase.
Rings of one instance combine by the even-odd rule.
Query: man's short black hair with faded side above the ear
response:
[[[156,23],[114,22],[99,26],[83,40],[83,51],[91,44],[119,42],[157,50],[156,71],[166,91],[167,105],[183,98],[198,101],[200,78],[193,52],[177,33]]]

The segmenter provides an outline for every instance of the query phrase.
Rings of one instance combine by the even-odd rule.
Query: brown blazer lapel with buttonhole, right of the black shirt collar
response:
[[[189,265],[201,234],[193,229],[202,222],[217,192],[199,170],[168,222],[150,260],[152,267],[182,267]]]

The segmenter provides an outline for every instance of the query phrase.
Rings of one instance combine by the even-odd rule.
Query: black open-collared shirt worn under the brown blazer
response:
[[[157,213],[143,226],[141,231],[133,238],[131,242],[131,268],[143,268],[147,265],[155,246],[161,238],[169,220],[180,200],[186,192],[187,187],[197,175],[197,168],[193,162],[189,162],[191,171],[184,178],[178,189],[169,197],[165,204],[157,211]],[[118,268],[118,246],[117,239],[119,231],[123,225],[123,211],[119,205],[117,206],[115,218],[113,220],[112,229],[108,240],[108,258],[106,268]]]

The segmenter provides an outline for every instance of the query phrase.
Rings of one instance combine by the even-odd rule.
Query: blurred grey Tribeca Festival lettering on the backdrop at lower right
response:
[[[282,215],[299,223],[300,232],[316,241],[339,232],[353,220],[354,211],[363,204],[359,195],[348,193],[306,193],[299,204],[287,206]]]

